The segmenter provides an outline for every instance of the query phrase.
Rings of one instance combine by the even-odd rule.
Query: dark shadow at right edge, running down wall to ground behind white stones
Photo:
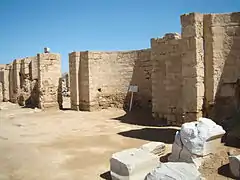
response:
[[[240,13],[232,13],[231,22],[240,24],[239,17]],[[222,43],[228,55],[223,62],[215,101],[206,110],[206,115],[227,131],[223,140],[226,145],[240,147],[240,26],[227,28],[228,36]]]

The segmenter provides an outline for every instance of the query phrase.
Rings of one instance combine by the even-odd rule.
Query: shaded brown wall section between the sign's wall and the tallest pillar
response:
[[[182,119],[182,59],[178,34],[151,39],[152,112],[156,119],[176,124]]]

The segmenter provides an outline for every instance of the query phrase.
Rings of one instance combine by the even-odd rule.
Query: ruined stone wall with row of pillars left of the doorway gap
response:
[[[16,59],[1,65],[0,101],[10,101],[25,107],[59,107],[59,54],[42,53],[34,57]]]

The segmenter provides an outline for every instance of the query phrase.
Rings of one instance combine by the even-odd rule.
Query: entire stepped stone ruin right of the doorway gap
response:
[[[75,110],[134,106],[182,124],[205,116],[226,119],[239,108],[240,13],[181,16],[182,33],[151,39],[151,48],[69,54]]]

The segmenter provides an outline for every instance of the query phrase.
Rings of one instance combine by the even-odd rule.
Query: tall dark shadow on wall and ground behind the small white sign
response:
[[[159,122],[152,118],[152,81],[151,81],[151,51],[137,51],[137,57],[133,64],[133,73],[130,85],[138,86],[138,92],[133,93],[132,109],[129,111],[131,92],[127,92],[123,101],[124,116],[114,118],[123,123],[143,126],[160,126]]]

